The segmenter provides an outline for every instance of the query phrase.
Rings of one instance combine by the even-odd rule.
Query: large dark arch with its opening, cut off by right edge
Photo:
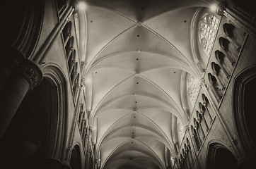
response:
[[[233,87],[233,117],[240,143],[247,160],[255,159],[255,101],[256,66],[243,70],[235,77]],[[249,162],[250,163],[250,162]]]

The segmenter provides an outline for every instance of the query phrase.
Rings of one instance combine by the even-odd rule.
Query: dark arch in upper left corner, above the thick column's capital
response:
[[[1,26],[4,44],[18,49],[27,58],[33,56],[42,32],[45,1],[11,0],[5,1],[3,6],[3,13],[8,13],[2,20],[4,26]]]

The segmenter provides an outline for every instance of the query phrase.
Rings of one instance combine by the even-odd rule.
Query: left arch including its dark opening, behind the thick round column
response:
[[[49,168],[65,153],[66,80],[56,66],[42,70],[42,82],[24,97],[1,139],[1,160],[10,168]]]

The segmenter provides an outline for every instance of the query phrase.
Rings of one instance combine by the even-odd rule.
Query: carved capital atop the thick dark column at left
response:
[[[17,73],[28,80],[28,91],[31,91],[34,87],[40,84],[40,82],[42,82],[42,71],[36,65],[36,63],[28,59],[25,59],[25,61],[18,64]]]

